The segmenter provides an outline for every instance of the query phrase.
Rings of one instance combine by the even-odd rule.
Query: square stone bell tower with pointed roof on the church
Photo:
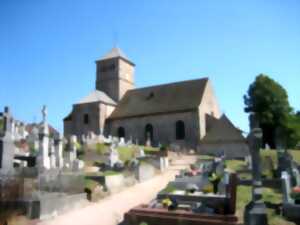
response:
[[[119,102],[124,94],[135,88],[134,63],[119,48],[113,48],[96,61],[96,89]]]

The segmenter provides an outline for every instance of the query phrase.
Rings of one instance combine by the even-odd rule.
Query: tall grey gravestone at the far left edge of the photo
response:
[[[0,137],[0,172],[7,174],[13,171],[15,147],[13,143],[12,117],[8,107],[5,107],[4,114],[4,134]]]

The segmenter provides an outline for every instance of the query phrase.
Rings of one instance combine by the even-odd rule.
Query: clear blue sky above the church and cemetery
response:
[[[259,73],[300,109],[299,0],[0,0],[0,111],[63,130],[118,45],[137,87],[208,76],[223,112],[248,130],[243,95]]]

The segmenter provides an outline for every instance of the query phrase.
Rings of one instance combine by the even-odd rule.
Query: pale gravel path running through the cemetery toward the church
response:
[[[116,225],[122,221],[124,213],[131,208],[154,199],[169,181],[174,180],[180,169],[186,168],[194,160],[193,156],[182,156],[174,160],[166,172],[151,180],[136,184],[97,203],[90,203],[53,220],[43,221],[39,225]]]

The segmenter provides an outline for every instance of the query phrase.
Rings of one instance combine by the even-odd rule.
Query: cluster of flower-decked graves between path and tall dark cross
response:
[[[215,158],[182,171],[155,200],[125,215],[125,224],[238,224],[237,177]]]

